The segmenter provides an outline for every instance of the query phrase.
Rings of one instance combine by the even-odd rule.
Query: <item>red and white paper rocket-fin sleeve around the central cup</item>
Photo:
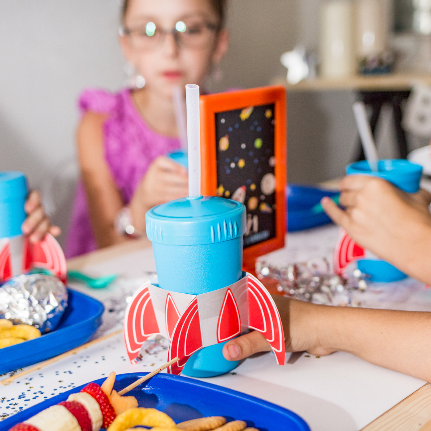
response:
[[[144,284],[126,309],[124,337],[131,362],[136,362],[148,337],[168,337],[168,360],[180,358],[168,372],[178,375],[197,350],[230,340],[249,329],[264,335],[277,363],[284,365],[284,333],[277,307],[260,281],[247,273],[228,287],[200,295]]]

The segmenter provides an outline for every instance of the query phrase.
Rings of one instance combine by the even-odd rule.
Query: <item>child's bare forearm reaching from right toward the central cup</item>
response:
[[[294,310],[301,307],[292,305],[294,322]],[[431,381],[430,312],[330,306],[315,306],[310,311],[314,314],[314,331],[325,350],[352,353],[373,364]]]

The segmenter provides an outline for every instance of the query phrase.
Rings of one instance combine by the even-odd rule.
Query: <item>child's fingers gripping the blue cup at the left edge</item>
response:
[[[54,237],[61,233],[58,226],[51,225],[50,218],[45,214],[42,206],[41,194],[38,191],[31,191],[25,201],[24,206],[27,219],[22,223],[22,232],[32,243],[43,240],[49,232]]]

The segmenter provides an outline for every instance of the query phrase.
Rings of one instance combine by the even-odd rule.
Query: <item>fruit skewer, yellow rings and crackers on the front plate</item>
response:
[[[115,372],[102,386],[89,383],[67,401],[48,407],[9,431],[258,431],[244,421],[226,422],[223,416],[192,419],[175,424],[166,413],[138,407],[135,397],[122,397],[113,389]],[[139,426],[146,428],[139,428]],[[138,427],[138,428],[134,428]]]

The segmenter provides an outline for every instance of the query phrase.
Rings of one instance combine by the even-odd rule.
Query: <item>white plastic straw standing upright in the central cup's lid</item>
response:
[[[189,197],[200,197],[199,85],[186,85]]]

